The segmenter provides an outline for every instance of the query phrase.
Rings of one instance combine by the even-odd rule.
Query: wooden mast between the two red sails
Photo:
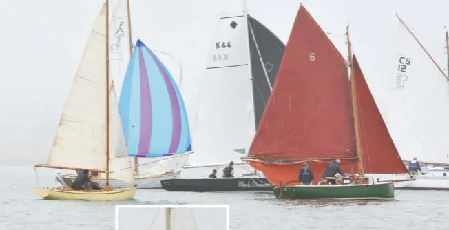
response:
[[[346,39],[348,40],[348,64],[349,64],[349,81],[351,83],[351,97],[353,102],[353,116],[354,116],[354,129],[355,129],[355,147],[356,153],[359,157],[358,171],[359,174],[363,174],[362,163],[362,149],[360,149],[360,136],[359,136],[359,119],[357,117],[357,98],[355,97],[355,81],[353,72],[353,51],[351,49],[351,40],[349,39],[349,25],[346,26]]]

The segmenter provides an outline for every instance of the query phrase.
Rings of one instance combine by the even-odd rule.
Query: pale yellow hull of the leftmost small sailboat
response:
[[[34,193],[44,200],[132,200],[136,194],[136,187],[111,189],[110,191],[76,191],[72,189],[36,188],[34,189]]]

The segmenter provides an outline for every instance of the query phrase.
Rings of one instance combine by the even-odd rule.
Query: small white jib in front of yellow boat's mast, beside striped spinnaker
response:
[[[113,171],[109,176],[134,186],[134,169],[128,156],[114,84],[109,95],[109,171]]]

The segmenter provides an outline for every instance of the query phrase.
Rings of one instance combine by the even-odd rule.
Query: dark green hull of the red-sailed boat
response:
[[[279,198],[279,187],[274,188]],[[393,199],[393,182],[374,185],[293,185],[284,186],[286,199]]]

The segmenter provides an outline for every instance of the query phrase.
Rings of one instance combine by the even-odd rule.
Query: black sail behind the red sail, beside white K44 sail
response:
[[[250,15],[248,15],[248,35],[253,76],[255,128],[257,129],[271,94],[265,71],[267,71],[270,84],[273,87],[284,55],[285,45],[273,32]],[[258,50],[264,65],[260,61]]]

